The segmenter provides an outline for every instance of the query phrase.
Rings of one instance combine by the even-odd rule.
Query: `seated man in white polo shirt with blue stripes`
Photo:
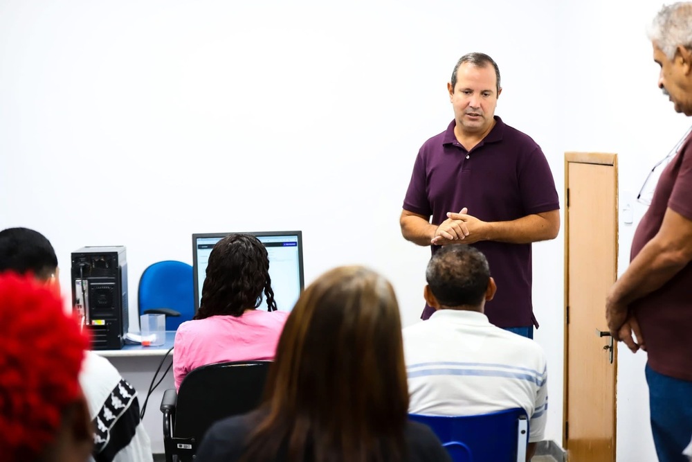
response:
[[[435,312],[403,329],[409,412],[471,416],[522,407],[529,416],[527,461],[543,439],[545,353],[533,340],[493,326],[483,314],[495,281],[468,245],[439,249],[428,263],[424,295]]]

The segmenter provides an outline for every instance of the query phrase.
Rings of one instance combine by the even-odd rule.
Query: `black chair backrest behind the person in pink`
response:
[[[221,362],[193,369],[178,390],[176,438],[201,441],[217,420],[245,414],[262,402],[271,361]]]

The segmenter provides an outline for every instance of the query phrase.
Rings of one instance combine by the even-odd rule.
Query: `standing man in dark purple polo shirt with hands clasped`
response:
[[[560,230],[552,173],[538,144],[495,116],[502,88],[491,57],[462,56],[447,89],[454,120],[418,152],[401,234],[433,253],[441,245],[477,247],[502,288],[486,304],[490,322],[533,338],[531,242]],[[421,317],[434,311],[426,305]]]

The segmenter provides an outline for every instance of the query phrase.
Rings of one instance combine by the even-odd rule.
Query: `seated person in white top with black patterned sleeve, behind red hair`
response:
[[[60,293],[57,256],[51,242],[26,228],[0,231],[0,273],[31,274]],[[137,392],[108,359],[86,350],[80,385],[89,404],[96,462],[152,461],[151,443],[139,417]]]

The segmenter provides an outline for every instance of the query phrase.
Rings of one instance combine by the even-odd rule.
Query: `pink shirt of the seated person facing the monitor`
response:
[[[206,364],[273,360],[289,312],[249,310],[241,317],[212,316],[182,323],[175,335],[176,390],[185,375]]]

